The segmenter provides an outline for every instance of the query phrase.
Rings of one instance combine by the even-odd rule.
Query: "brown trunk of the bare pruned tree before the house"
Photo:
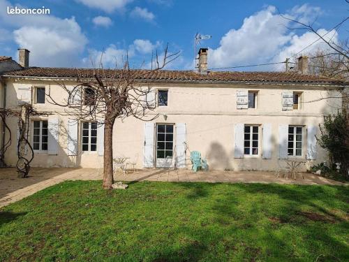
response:
[[[114,183],[112,170],[112,123],[107,122],[104,126],[104,174],[103,174],[103,188],[111,189]]]

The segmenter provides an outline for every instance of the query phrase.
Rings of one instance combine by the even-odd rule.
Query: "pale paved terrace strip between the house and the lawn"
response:
[[[302,178],[304,175],[304,179]],[[27,178],[17,178],[15,168],[0,168],[0,208],[30,196],[46,187],[65,180],[101,180],[95,168],[31,168]],[[278,184],[329,184],[345,185],[309,173],[297,174],[297,180],[279,177],[272,172],[259,171],[200,171],[172,169],[142,169],[117,173],[116,181],[168,181],[168,182],[230,182],[230,183],[278,183]]]

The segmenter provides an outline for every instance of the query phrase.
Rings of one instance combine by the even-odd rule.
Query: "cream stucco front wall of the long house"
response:
[[[66,82],[73,85],[73,82]],[[55,98],[64,98],[57,83],[43,80],[7,80],[6,101],[8,107],[17,107],[17,90],[20,86],[45,86]],[[158,107],[151,114],[158,114],[155,123],[185,123],[187,166],[190,167],[190,151],[198,150],[207,158],[210,168],[230,170],[273,170],[279,159],[279,124],[318,125],[323,115],[335,113],[341,107],[341,99],[322,99],[329,96],[325,87],[314,86],[281,86],[280,85],[156,85],[154,88],[168,89],[168,106]],[[237,90],[257,90],[258,107],[255,109],[238,110],[236,102]],[[301,110],[283,111],[281,97],[283,90],[303,92]],[[332,92],[332,91],[331,91]],[[332,92],[331,96],[339,96]],[[103,157],[96,152],[81,152],[77,157],[67,155],[66,126],[68,117],[61,115],[63,109],[49,103],[34,105],[39,111],[54,112],[61,119],[59,134],[59,153],[56,156],[46,152],[36,153],[32,166],[82,166],[98,167]],[[165,119],[164,115],[167,116]],[[47,117],[34,117],[35,119]],[[234,158],[234,124],[272,124],[272,159],[262,159],[260,154],[243,159]],[[13,141],[16,140],[17,119],[8,119],[13,130]],[[32,129],[31,129],[32,130]],[[306,136],[306,134],[304,135]],[[174,136],[175,137],[175,136]],[[129,157],[135,161],[136,167],[143,166],[144,122],[128,117],[123,122],[118,120],[114,126],[114,157]],[[174,141],[175,142],[175,141]],[[262,145],[260,140],[259,145]],[[13,143],[6,154],[6,163],[15,165],[17,161],[16,145]],[[260,148],[260,152],[261,152]],[[304,143],[303,152],[306,152]],[[318,159],[326,158],[325,152],[318,149]],[[302,157],[305,159],[305,155]]]

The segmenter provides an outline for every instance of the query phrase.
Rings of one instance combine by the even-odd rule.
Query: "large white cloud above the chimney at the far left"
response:
[[[87,45],[74,17],[53,15],[7,15],[8,1],[0,0],[0,22],[13,30],[19,48],[31,51],[31,66],[78,66]]]

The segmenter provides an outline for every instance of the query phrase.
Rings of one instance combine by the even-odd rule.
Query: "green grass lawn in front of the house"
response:
[[[0,261],[349,261],[348,187],[64,182],[3,208]]]

